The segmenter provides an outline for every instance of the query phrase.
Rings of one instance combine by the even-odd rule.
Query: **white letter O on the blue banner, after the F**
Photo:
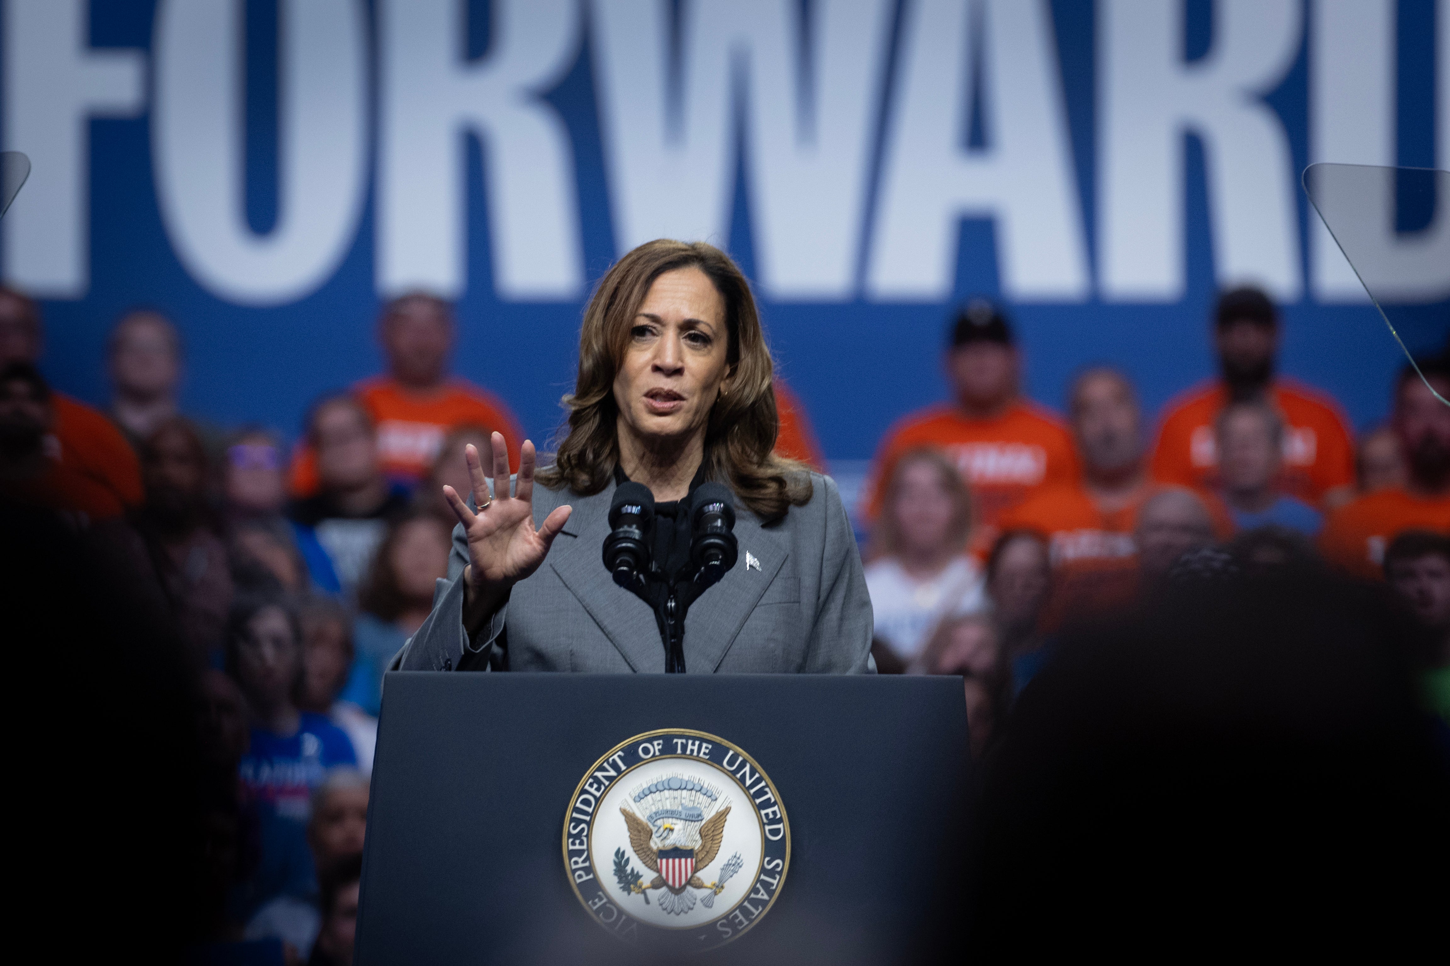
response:
[[[278,4],[277,223],[246,223],[244,0],[162,3],[152,158],[187,271],[246,306],[296,301],[352,246],[367,172],[367,32],[358,0]]]

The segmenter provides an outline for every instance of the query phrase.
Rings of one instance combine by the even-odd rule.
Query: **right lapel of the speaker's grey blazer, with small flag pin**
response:
[[[719,669],[745,620],[790,556],[784,537],[761,527],[755,514],[744,507],[737,510],[735,540],[740,545],[735,566],[690,605],[686,617],[687,671]]]

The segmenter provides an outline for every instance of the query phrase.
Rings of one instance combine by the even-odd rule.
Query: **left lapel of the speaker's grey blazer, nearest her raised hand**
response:
[[[616,587],[605,569],[602,553],[613,494],[613,482],[593,497],[560,494],[558,503],[571,504],[574,513],[545,559],[634,671],[664,671],[664,644],[654,613],[642,600]],[[690,646],[689,636],[684,646]]]

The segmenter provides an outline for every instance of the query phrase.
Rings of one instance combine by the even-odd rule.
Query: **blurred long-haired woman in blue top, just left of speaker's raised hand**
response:
[[[448,576],[451,549],[448,521],[431,513],[400,517],[389,527],[358,592],[357,659],[344,701],[368,714],[378,713],[383,672],[432,610],[435,581]]]

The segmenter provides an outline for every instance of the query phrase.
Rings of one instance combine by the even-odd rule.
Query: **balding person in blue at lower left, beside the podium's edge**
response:
[[[335,870],[345,869],[362,854],[367,830],[368,782],[349,768],[328,772],[312,797],[307,844],[312,847],[318,879],[326,883]],[[248,940],[280,938],[306,962],[322,927],[322,896],[281,895],[264,905],[246,924]]]

